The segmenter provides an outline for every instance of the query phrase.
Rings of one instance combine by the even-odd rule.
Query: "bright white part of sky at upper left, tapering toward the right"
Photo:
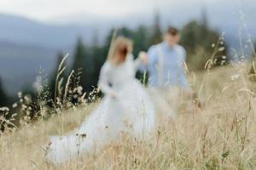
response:
[[[16,14],[34,20],[60,20],[76,14],[123,17],[147,14],[156,8],[182,7],[214,0],[0,0],[0,13]],[[215,0],[216,1],[216,0]],[[219,1],[219,0],[218,0]],[[209,5],[209,4],[208,4]]]

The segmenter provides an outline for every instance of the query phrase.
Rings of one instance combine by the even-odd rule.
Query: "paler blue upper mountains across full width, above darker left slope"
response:
[[[162,7],[160,12],[162,26],[184,26],[189,20],[201,20],[202,12],[207,15],[209,26],[225,32],[231,46],[237,47],[239,27],[247,25],[247,33],[256,39],[256,3],[219,3],[212,2],[205,6],[201,3],[185,3],[183,5]],[[181,9],[186,11],[181,13]],[[242,12],[241,12],[242,11]],[[90,14],[74,14],[50,23],[40,23],[20,16],[0,14],[0,41],[17,44],[36,45],[44,48],[66,49],[73,46],[77,37],[83,37],[87,43],[92,42],[97,34],[101,42],[113,26],[136,27],[140,24],[150,26],[155,11],[150,13],[131,14],[126,17],[104,18]],[[241,19],[244,15],[244,19]],[[64,21],[63,21],[64,20]],[[234,41],[235,39],[235,41]]]

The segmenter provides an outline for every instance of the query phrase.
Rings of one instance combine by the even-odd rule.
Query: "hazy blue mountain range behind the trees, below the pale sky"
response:
[[[206,14],[209,26],[225,32],[230,48],[239,47],[239,32],[243,37],[250,33],[256,39],[256,11],[251,8],[241,13],[228,4],[214,3],[211,8],[187,5],[183,6],[183,11],[186,12],[180,11],[180,8],[159,10],[163,28],[170,24],[181,28],[189,20],[201,20],[202,14]],[[71,54],[69,60],[72,60],[73,46],[78,37],[90,44],[97,35],[102,42],[113,26],[151,26],[154,14],[155,11],[152,14],[133,14],[108,20],[77,14],[67,17],[65,23],[42,23],[20,16],[0,14],[0,77],[3,78],[4,87],[9,94],[15,94],[20,88],[32,84],[40,67],[49,74],[55,65],[56,53],[60,50]]]

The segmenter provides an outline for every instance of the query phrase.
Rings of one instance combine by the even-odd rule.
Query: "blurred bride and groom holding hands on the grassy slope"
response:
[[[177,29],[169,27],[163,42],[134,60],[131,40],[117,37],[99,77],[105,97],[73,132],[50,138],[47,160],[58,164],[94,154],[120,142],[124,133],[148,140],[159,114],[175,118],[181,93],[194,94],[185,76],[186,51],[177,44],[179,38]],[[137,71],[148,71],[148,90],[135,78]]]

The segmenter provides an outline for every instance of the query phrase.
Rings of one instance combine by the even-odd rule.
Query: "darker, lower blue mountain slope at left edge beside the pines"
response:
[[[45,73],[55,65],[56,50],[36,46],[0,42],[0,77],[9,94],[16,94],[20,88],[32,85],[40,67]]]

